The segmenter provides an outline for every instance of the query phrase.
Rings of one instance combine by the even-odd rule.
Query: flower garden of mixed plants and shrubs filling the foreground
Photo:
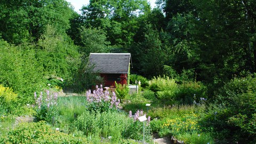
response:
[[[200,82],[178,83],[167,76],[137,79],[138,93],[129,94],[121,84],[107,90],[96,85],[77,96],[58,97],[51,88],[34,92],[34,102],[23,106],[18,94],[0,85],[0,142],[154,143],[163,137],[181,143],[255,142],[255,75],[234,78],[214,100],[207,99]],[[15,123],[17,116],[27,115],[33,122]],[[147,117],[145,130],[141,116]]]

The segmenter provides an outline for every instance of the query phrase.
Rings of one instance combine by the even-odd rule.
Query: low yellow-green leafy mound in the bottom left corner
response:
[[[0,139],[1,140],[1,139]],[[38,123],[21,123],[11,130],[1,143],[86,143],[82,137],[52,130],[43,121]]]

